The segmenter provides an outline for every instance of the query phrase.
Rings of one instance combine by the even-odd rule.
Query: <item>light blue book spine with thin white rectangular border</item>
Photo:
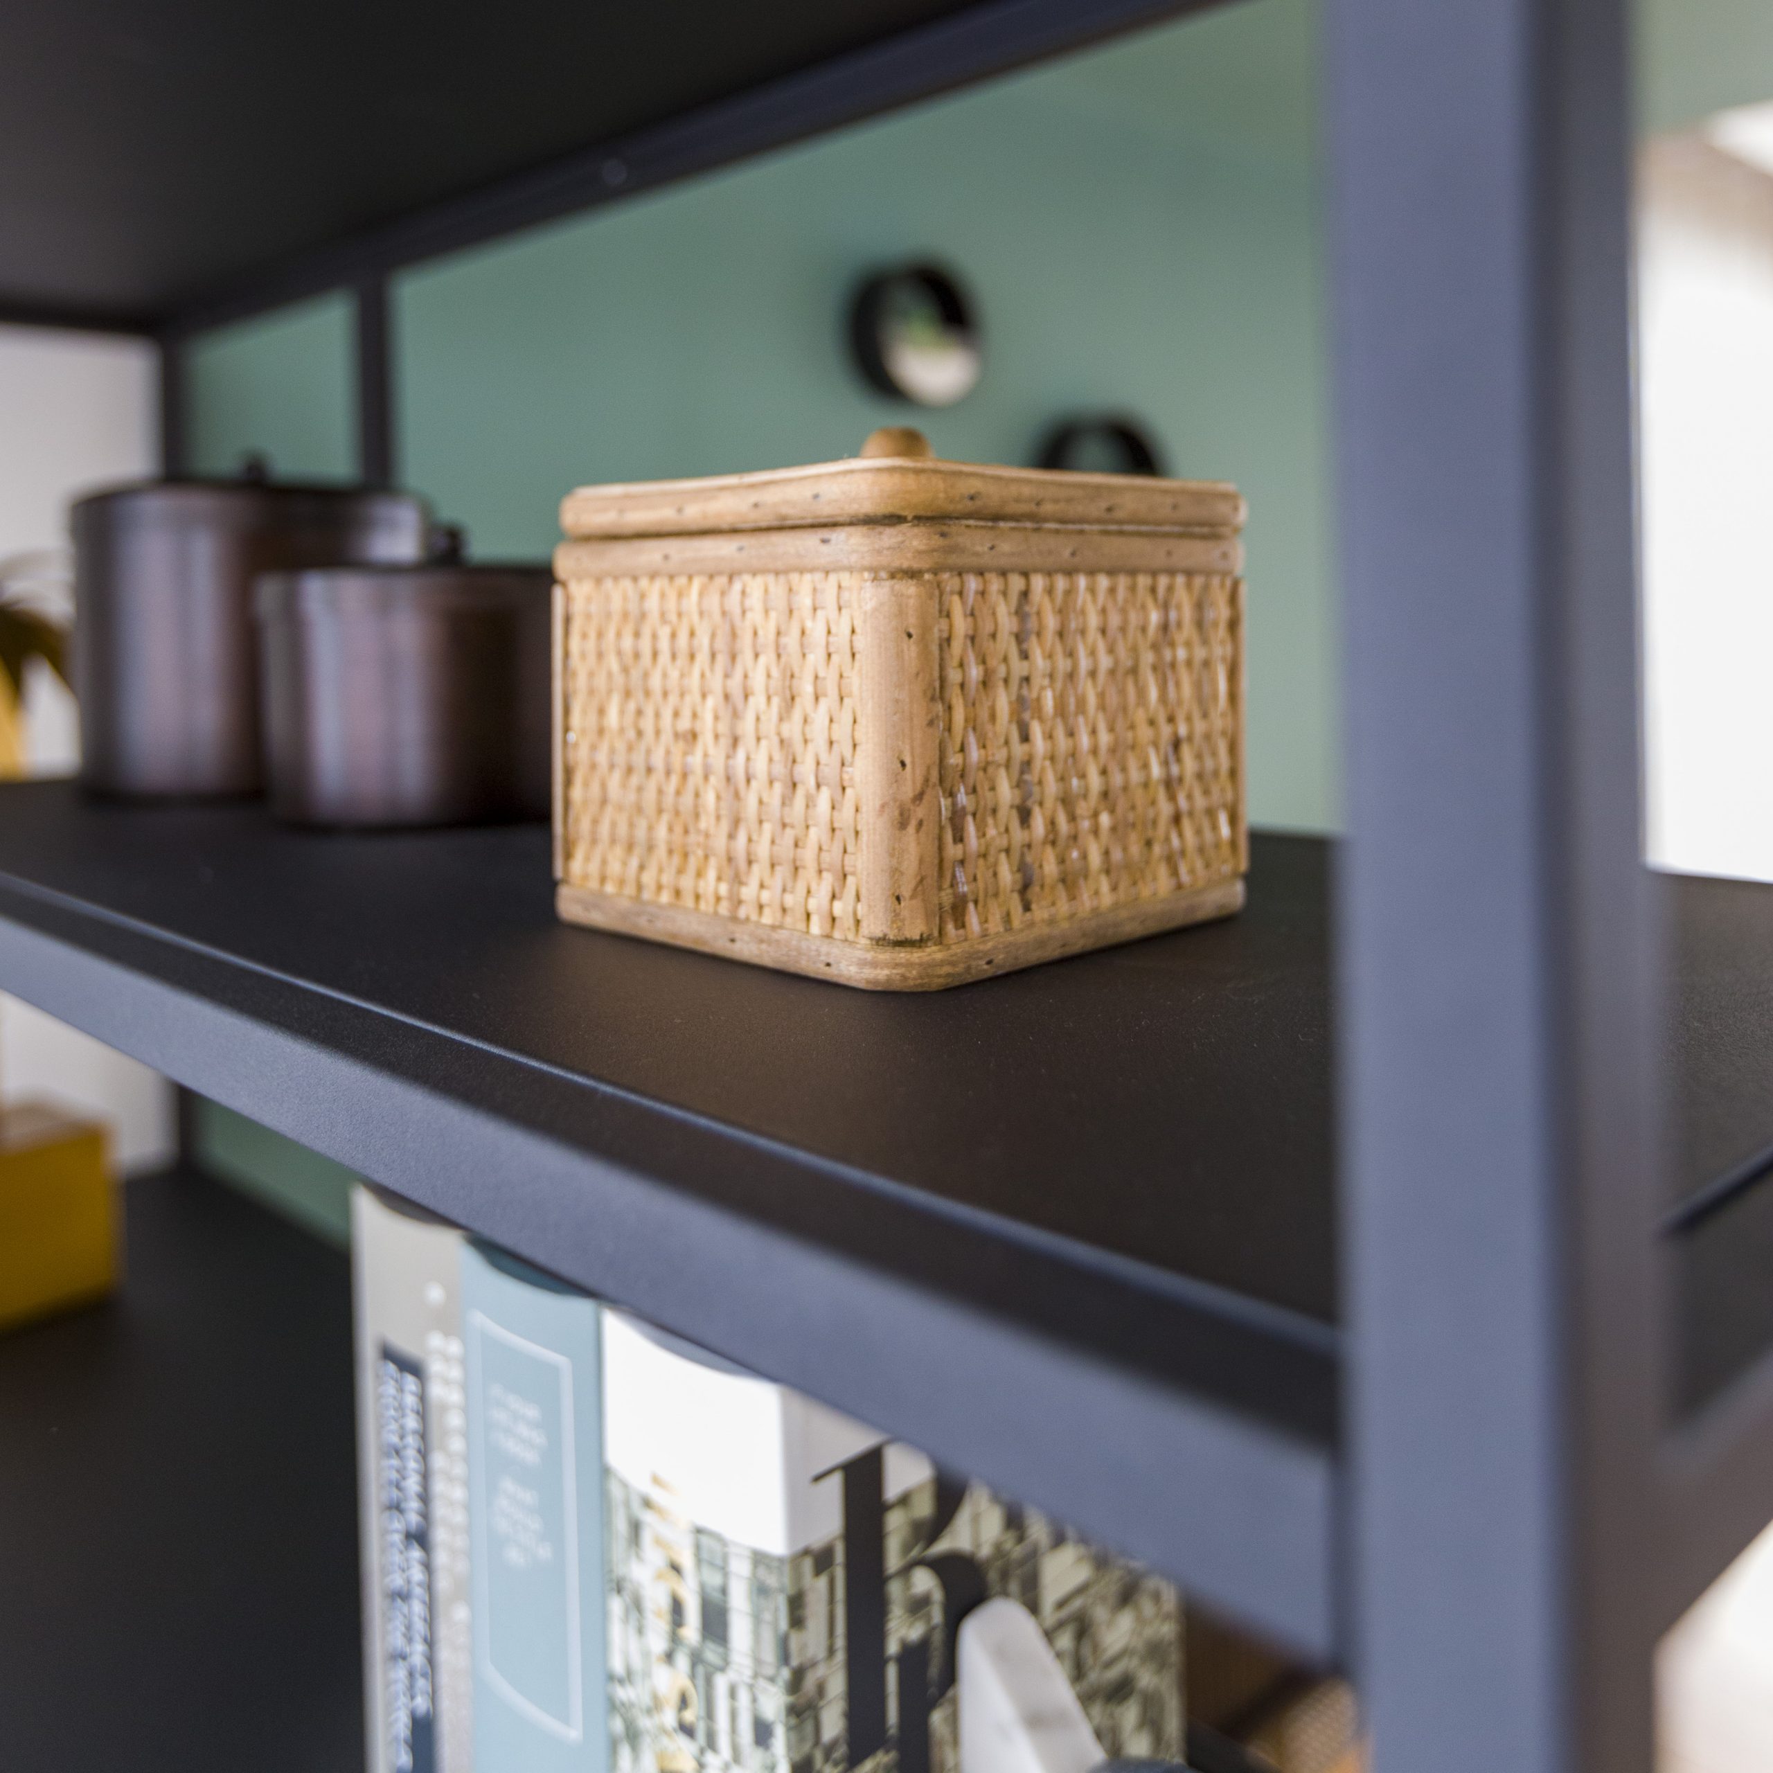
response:
[[[470,1245],[475,1773],[605,1773],[599,1307]]]

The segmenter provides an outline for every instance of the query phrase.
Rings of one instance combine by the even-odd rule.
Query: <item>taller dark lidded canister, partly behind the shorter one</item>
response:
[[[264,787],[252,582],[269,567],[426,555],[410,493],[154,480],[82,498],[74,690],[82,780],[105,794],[230,796]]]

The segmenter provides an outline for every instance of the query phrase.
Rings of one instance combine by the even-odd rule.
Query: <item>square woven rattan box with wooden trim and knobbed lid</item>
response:
[[[931,991],[1243,904],[1234,488],[888,431],[562,527],[564,918]]]

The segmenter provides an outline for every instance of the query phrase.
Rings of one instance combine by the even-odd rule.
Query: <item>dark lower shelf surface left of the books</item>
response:
[[[363,1766],[349,1266],[199,1175],[0,1337],[0,1718],[32,1773]]]

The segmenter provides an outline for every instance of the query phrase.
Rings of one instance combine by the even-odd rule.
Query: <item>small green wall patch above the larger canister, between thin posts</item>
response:
[[[348,296],[321,296],[193,340],[186,367],[190,465],[234,473],[261,450],[287,479],[356,475],[355,326]]]

